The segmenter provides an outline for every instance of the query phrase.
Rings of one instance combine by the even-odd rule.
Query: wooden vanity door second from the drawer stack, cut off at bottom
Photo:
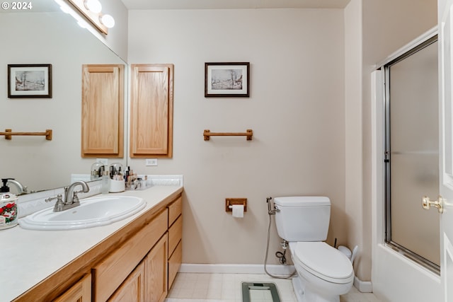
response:
[[[143,302],[144,300],[144,263],[140,264],[122,282],[121,286],[108,299],[109,302]]]

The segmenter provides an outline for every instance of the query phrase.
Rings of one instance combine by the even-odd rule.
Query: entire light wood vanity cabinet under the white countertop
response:
[[[13,302],[162,302],[181,262],[182,189]]]

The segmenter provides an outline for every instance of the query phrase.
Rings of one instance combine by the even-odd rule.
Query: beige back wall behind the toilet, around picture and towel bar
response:
[[[263,264],[267,196],[330,197],[328,242],[347,241],[343,21],[335,9],[130,11],[128,63],[175,64],[173,158],[130,165],[184,175],[183,262]],[[205,62],[250,62],[251,97],[205,98]],[[254,136],[204,141],[203,129]],[[243,219],[225,197],[248,198]]]

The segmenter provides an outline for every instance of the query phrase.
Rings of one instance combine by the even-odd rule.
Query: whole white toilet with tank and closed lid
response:
[[[292,284],[299,302],[339,302],[354,282],[352,263],[323,242],[331,217],[328,197],[275,197],[277,233],[289,242],[297,270]]]

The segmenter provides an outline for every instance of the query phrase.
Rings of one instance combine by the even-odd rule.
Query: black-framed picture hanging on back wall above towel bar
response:
[[[205,98],[249,96],[249,62],[205,63]]]

